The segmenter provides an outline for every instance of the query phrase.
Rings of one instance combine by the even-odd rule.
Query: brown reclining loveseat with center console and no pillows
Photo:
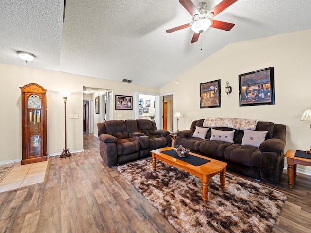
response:
[[[151,150],[172,144],[170,132],[158,130],[150,120],[109,120],[97,128],[100,155],[108,166],[150,156]]]

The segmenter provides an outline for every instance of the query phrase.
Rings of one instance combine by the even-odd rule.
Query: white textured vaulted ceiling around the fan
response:
[[[192,20],[178,0],[66,0],[64,23],[63,7],[0,0],[0,62],[161,87],[230,43],[311,29],[311,0],[239,0],[214,17],[231,31],[209,28],[193,44],[190,28],[165,32]]]

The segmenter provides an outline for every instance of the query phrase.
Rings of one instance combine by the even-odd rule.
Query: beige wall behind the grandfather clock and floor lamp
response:
[[[22,157],[21,91],[19,87],[25,84],[38,83],[48,90],[47,136],[49,154],[60,154],[65,147],[64,101],[59,95],[59,91],[71,92],[67,100],[67,147],[69,151],[83,150],[83,86],[111,89],[116,94],[129,96],[132,95],[133,91],[159,93],[158,88],[7,64],[0,64],[0,74],[2,85],[0,163],[18,161]],[[118,110],[118,114],[120,113],[123,117],[118,119],[133,118],[132,111]],[[78,114],[79,119],[69,119],[70,114]],[[112,114],[117,116],[114,108]]]

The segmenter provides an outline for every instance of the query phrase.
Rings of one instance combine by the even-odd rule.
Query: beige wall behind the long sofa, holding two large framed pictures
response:
[[[207,117],[256,118],[287,126],[286,151],[306,150],[311,146],[311,122],[300,117],[311,108],[310,41],[311,30],[305,30],[230,44],[160,88],[160,93],[174,93],[174,109],[183,116],[179,130]],[[238,75],[268,67],[275,71],[275,105],[240,107]],[[217,79],[221,108],[200,109],[199,83]],[[225,93],[226,81],[232,86],[230,95]]]

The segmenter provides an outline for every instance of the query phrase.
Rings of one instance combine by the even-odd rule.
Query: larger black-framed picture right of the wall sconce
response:
[[[275,104],[274,67],[239,75],[240,106]]]

